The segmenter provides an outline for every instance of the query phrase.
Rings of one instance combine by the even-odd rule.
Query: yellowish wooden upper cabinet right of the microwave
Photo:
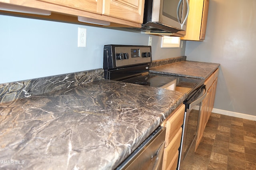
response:
[[[186,35],[182,40],[205,39],[209,0],[190,0]]]

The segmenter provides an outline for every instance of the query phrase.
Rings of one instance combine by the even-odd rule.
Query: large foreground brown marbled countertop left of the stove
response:
[[[172,90],[97,80],[2,102],[0,169],[114,169],[185,98]]]

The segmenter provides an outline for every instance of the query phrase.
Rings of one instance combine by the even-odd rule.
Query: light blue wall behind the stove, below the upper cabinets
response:
[[[87,29],[77,47],[78,27]],[[106,44],[148,45],[147,34],[0,15],[0,83],[103,68]],[[152,59],[184,56],[183,48],[160,48],[152,36]]]

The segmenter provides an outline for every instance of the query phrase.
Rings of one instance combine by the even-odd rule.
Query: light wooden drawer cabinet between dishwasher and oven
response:
[[[164,149],[162,170],[176,170],[177,168],[184,113],[185,105],[182,104],[162,123],[162,126],[166,127],[166,147]]]

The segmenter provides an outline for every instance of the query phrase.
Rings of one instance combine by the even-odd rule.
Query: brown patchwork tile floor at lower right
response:
[[[256,170],[256,121],[212,113],[189,170]]]

